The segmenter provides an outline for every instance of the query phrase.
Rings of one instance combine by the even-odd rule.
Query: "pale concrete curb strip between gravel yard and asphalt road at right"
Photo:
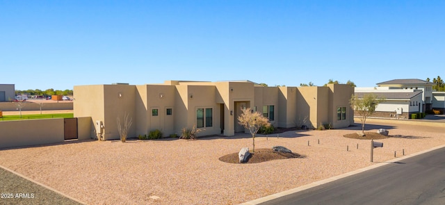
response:
[[[261,197],[259,199],[254,199],[254,200],[252,200],[250,202],[245,202],[245,203],[240,204],[240,205],[261,204],[261,203],[268,202],[268,201],[273,200],[273,199],[277,199],[277,198],[280,198],[280,197],[284,197],[286,195],[291,195],[293,193],[300,192],[302,190],[307,190],[309,188],[320,186],[320,185],[325,184],[325,183],[336,181],[337,179],[342,179],[342,178],[349,177],[349,176],[354,175],[354,174],[359,174],[361,172],[365,172],[367,170],[372,170],[372,169],[375,169],[377,167],[381,167],[381,166],[387,165],[388,163],[394,163],[394,162],[397,162],[397,161],[404,160],[406,158],[410,158],[410,157],[417,156],[417,155],[420,155],[420,154],[425,154],[428,151],[433,151],[433,150],[441,149],[441,148],[444,148],[444,147],[445,147],[445,145],[439,145],[437,147],[432,147],[431,149],[426,149],[426,150],[423,150],[423,151],[419,151],[419,152],[416,152],[414,154],[410,154],[410,155],[407,155],[407,156],[402,156],[402,157],[399,157],[399,158],[394,158],[394,159],[391,159],[389,161],[385,161],[385,162],[382,162],[382,163],[377,163],[375,165],[371,165],[369,167],[363,167],[361,169],[358,169],[358,170],[355,170],[355,171],[352,171],[352,172],[347,172],[345,174],[340,174],[339,176],[330,177],[330,178],[327,178],[327,179],[323,179],[321,181],[316,181],[316,182],[313,182],[313,183],[309,183],[309,184],[304,185],[304,186],[300,186],[300,187],[293,188],[293,189],[290,189],[290,190],[285,190],[283,192],[278,192],[278,193],[273,194],[273,195],[268,195],[266,197]]]

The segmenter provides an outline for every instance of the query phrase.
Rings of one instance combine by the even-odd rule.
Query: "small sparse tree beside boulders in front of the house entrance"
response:
[[[238,124],[244,126],[245,129],[250,131],[253,140],[252,152],[255,152],[255,135],[261,128],[261,126],[270,126],[270,122],[267,117],[259,112],[252,112],[250,108],[241,108],[243,113],[238,116]]]

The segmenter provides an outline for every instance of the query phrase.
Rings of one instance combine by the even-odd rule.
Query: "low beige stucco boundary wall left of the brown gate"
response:
[[[3,121],[0,130],[0,148],[47,145],[65,140],[63,118]]]

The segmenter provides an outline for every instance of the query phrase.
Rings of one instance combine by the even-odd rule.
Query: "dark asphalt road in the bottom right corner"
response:
[[[445,204],[445,148],[263,203],[267,204]]]

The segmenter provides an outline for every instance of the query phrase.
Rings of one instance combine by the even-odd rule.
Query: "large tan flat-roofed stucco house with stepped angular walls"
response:
[[[192,126],[200,136],[234,136],[241,108],[250,107],[268,117],[275,127],[332,128],[354,123],[349,106],[354,89],[326,87],[263,87],[251,81],[165,81],[162,84],[74,86],[74,117],[92,117],[91,136],[119,139],[117,119],[127,113],[133,122],[129,137],[159,129],[164,136]]]

